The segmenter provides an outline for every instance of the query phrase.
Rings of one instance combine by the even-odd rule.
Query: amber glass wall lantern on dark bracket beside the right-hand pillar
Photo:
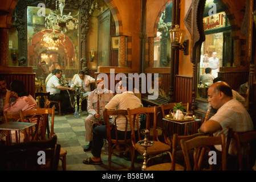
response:
[[[170,43],[172,43],[172,48],[174,49],[180,49],[183,51],[184,55],[189,54],[189,40],[185,40],[181,43],[183,31],[179,28],[178,24],[175,25],[175,28],[170,29]]]

